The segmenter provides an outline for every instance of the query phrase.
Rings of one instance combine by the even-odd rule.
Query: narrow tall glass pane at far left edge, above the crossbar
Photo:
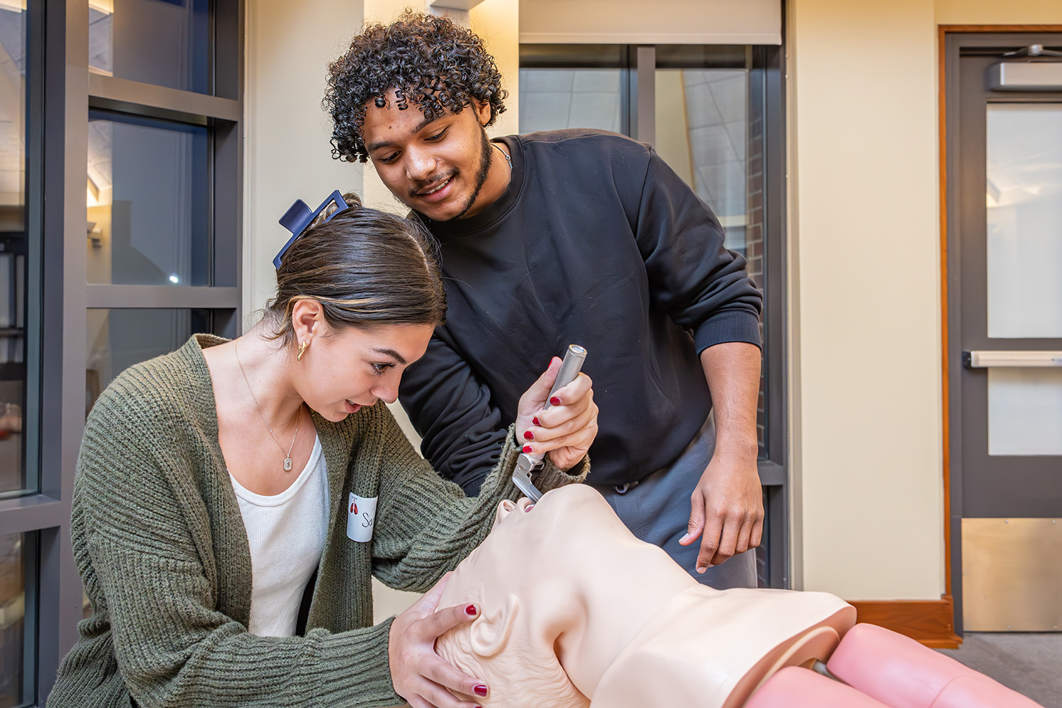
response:
[[[19,3],[0,4],[0,494],[27,486],[25,29]]]

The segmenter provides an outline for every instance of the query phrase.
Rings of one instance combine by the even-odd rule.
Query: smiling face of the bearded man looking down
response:
[[[416,104],[399,109],[392,90],[383,108],[365,104],[362,138],[395,196],[429,219],[449,221],[475,215],[508,186],[508,174],[492,170],[497,151],[483,131],[490,117],[490,104],[473,103],[427,121]]]

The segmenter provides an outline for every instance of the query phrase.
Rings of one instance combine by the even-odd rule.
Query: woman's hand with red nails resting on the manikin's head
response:
[[[435,639],[462,622],[479,617],[475,605],[447,607],[438,612],[439,599],[450,573],[391,623],[388,660],[395,693],[413,708],[476,708],[486,695],[486,684],[461,673],[435,654]],[[452,691],[453,693],[451,693]],[[458,695],[468,696],[462,701]]]

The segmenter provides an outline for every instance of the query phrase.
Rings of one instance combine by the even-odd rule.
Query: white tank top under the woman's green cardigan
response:
[[[251,624],[259,637],[295,634],[303,591],[321,562],[328,525],[328,470],[321,438],[290,487],[273,497],[228,473],[251,545]]]

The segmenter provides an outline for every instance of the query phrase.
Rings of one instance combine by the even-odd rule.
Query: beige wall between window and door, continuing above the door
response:
[[[1057,0],[789,4],[794,558],[850,600],[944,592],[937,24]]]

